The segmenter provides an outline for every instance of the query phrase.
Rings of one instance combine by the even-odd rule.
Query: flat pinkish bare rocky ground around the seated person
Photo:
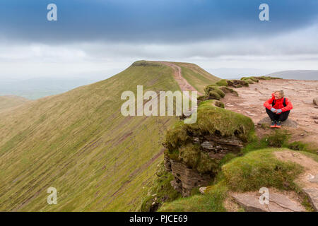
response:
[[[222,100],[225,108],[251,117],[256,124],[267,117],[263,104],[271,97],[271,93],[274,90],[284,90],[285,97],[293,104],[289,117],[298,123],[297,128],[288,128],[293,132],[291,141],[314,143],[318,147],[318,109],[312,103],[312,99],[318,97],[318,81],[259,81],[235,90],[239,97],[226,95]]]

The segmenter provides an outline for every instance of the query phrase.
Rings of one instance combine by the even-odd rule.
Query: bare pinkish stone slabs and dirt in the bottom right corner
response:
[[[275,153],[276,157],[282,161],[291,161],[304,167],[304,172],[298,177],[302,191],[308,196],[314,210],[318,210],[318,163],[310,157],[290,150]],[[295,191],[278,191],[269,188],[269,204],[259,203],[259,192],[250,191],[245,193],[232,192],[225,202],[230,211],[237,211],[239,207],[248,212],[303,212],[305,208],[300,204],[300,198]],[[238,206],[237,206],[238,204]]]

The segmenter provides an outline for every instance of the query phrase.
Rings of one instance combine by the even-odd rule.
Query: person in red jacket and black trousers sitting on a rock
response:
[[[288,114],[293,109],[290,100],[284,97],[283,90],[272,93],[271,99],[264,102],[264,107],[266,107],[266,113],[271,118],[271,128],[281,128],[281,122],[288,119]]]

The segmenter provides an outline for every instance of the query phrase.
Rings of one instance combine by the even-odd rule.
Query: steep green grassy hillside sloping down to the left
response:
[[[176,118],[123,117],[120,96],[137,85],[179,90],[172,72],[134,63],[105,81],[0,113],[0,210],[136,210]],[[47,204],[50,186],[57,205]]]

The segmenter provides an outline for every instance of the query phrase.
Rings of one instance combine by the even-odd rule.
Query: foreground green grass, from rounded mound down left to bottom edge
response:
[[[294,180],[303,169],[296,163],[276,159],[273,152],[282,150],[285,149],[265,148],[242,157],[230,157],[204,195],[196,194],[164,203],[159,211],[226,211],[224,201],[228,191],[259,191],[264,186],[299,193],[299,186]],[[302,203],[306,204],[305,199]]]

